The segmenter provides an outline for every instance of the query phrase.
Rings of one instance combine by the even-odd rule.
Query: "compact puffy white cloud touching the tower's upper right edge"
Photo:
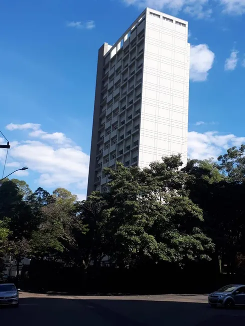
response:
[[[190,46],[190,79],[192,81],[204,81],[211,69],[214,53],[206,44]]]

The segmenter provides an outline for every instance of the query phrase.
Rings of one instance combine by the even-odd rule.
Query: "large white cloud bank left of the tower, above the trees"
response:
[[[39,177],[36,182],[42,187],[73,185],[80,189],[86,188],[89,156],[71,139],[61,132],[47,133],[40,129],[39,124],[10,124],[7,127],[8,130],[36,131],[28,134],[28,137],[36,140],[27,139],[11,143],[9,159],[12,163],[9,164],[13,166],[19,163],[19,166],[28,166],[30,171],[37,172]]]

